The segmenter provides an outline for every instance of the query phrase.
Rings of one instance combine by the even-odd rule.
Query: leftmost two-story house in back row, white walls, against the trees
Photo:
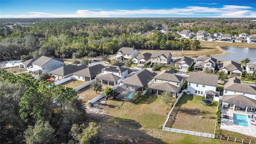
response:
[[[118,60],[133,59],[138,56],[138,50],[135,48],[122,47],[116,53],[115,58]]]

